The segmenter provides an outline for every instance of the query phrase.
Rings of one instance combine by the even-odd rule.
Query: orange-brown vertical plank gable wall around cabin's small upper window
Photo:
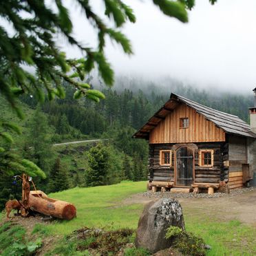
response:
[[[180,128],[180,118],[189,118],[189,127]],[[187,105],[179,105],[149,134],[149,143],[223,142],[225,132]]]

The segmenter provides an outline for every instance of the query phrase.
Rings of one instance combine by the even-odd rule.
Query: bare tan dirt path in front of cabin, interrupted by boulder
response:
[[[136,194],[123,204],[147,204],[152,198]],[[256,191],[224,198],[179,198],[186,215],[209,215],[221,220],[239,220],[256,227]]]

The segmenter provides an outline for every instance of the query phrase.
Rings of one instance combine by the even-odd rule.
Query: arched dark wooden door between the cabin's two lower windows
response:
[[[191,186],[193,183],[194,151],[180,147],[175,153],[175,185]]]

